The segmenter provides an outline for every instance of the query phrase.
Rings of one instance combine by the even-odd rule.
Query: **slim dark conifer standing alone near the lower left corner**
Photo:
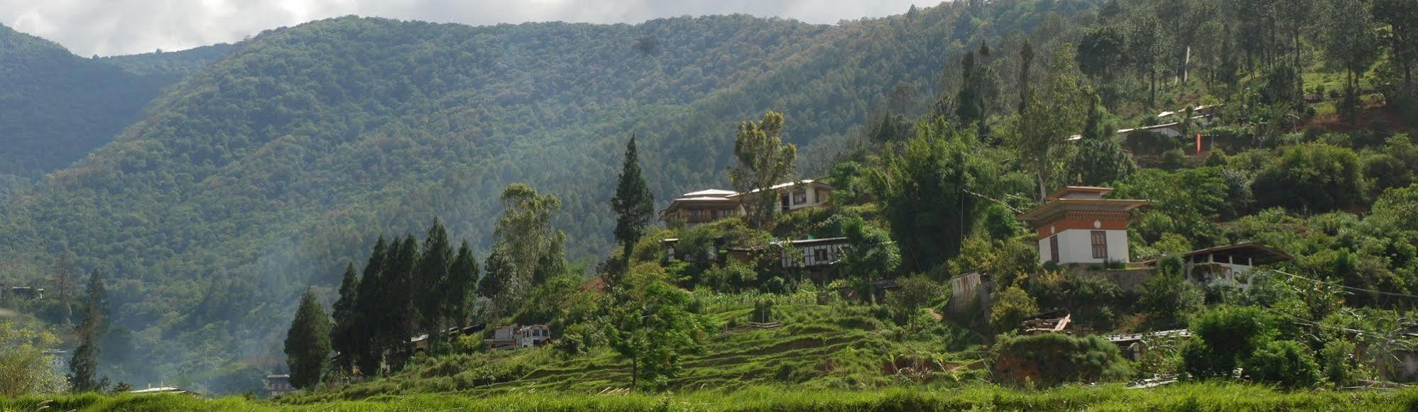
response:
[[[69,388],[74,392],[96,392],[108,387],[108,377],[98,378],[99,340],[108,333],[108,292],[98,270],[89,273],[88,297],[84,299],[84,320],[74,330],[79,345],[69,360]]]

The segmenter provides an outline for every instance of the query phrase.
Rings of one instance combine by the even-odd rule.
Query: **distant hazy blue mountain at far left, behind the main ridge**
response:
[[[225,50],[92,59],[0,25],[0,202],[14,178],[6,174],[34,180],[84,157]]]

